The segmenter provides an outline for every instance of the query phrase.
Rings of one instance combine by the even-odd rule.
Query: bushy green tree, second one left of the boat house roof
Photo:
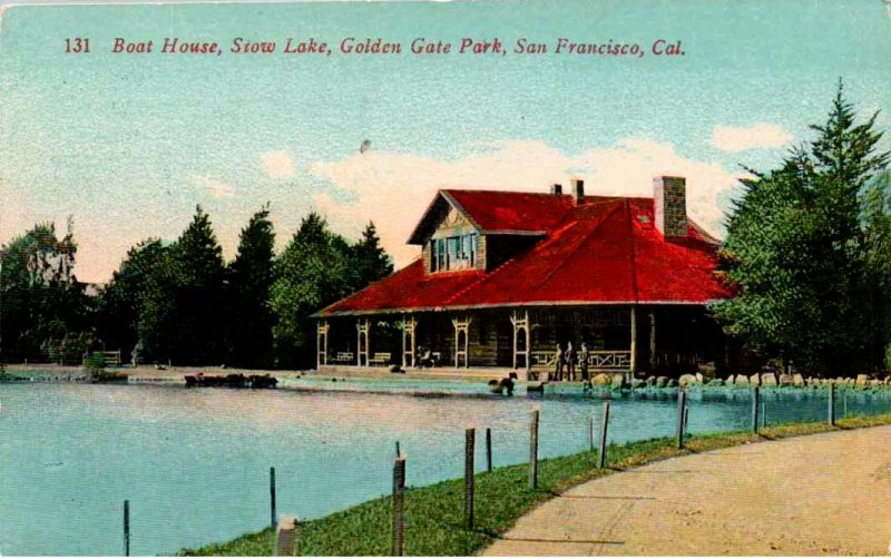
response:
[[[278,258],[277,278],[270,305],[280,364],[307,366],[307,349],[315,347],[315,324],[310,315],[352,292],[350,245],[329,231],[316,213],[303,218],[300,229]]]

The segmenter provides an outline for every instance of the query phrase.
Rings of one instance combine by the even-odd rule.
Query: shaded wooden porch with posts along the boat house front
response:
[[[554,371],[559,344],[588,370],[688,370],[722,356],[719,328],[698,305],[588,305],[474,308],[334,316],[319,322],[317,367],[403,370],[502,367]],[[580,363],[576,361],[577,374]]]

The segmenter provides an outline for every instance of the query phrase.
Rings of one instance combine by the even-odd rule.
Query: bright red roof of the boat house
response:
[[[666,241],[655,228],[652,198],[587,196],[576,206],[570,196],[547,194],[441,194],[482,233],[538,233],[545,238],[489,273],[424,275],[419,258],[319,315],[554,304],[705,304],[730,296],[714,275],[717,242],[692,220],[686,238]]]

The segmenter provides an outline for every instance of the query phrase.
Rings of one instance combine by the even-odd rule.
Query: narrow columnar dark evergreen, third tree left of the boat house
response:
[[[275,280],[274,245],[266,205],[242,229],[238,252],[228,268],[229,362],[237,366],[267,367],[273,362],[270,288]]]

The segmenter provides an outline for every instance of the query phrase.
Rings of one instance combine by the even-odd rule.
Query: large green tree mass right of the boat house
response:
[[[753,347],[815,372],[878,364],[890,333],[888,310],[874,305],[891,295],[880,272],[888,204],[872,186],[889,154],[875,153],[874,121],[855,124],[840,86],[826,124],[812,127],[819,137],[744,180],[727,224],[721,273],[737,296],[714,305],[716,316]]]

